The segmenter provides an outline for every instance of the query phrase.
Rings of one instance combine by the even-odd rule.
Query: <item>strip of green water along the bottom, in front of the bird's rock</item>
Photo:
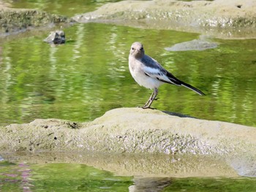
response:
[[[121,177],[83,164],[0,163],[0,191],[256,191],[256,178]]]

